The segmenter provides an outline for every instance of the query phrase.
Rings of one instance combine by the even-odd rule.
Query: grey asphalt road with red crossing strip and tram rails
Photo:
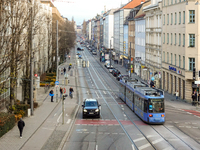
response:
[[[77,59],[79,100],[96,98],[101,104],[101,118],[82,119],[80,107],[75,124],[63,149],[115,150],[115,149],[200,149],[200,119],[188,110],[173,106],[166,97],[164,125],[143,123],[118,98],[118,83],[86,48],[81,52],[89,61],[82,68]]]

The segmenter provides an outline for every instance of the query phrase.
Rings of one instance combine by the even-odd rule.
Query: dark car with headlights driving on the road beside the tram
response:
[[[85,99],[83,102],[83,114],[82,117],[94,116],[100,118],[99,102],[96,99]]]

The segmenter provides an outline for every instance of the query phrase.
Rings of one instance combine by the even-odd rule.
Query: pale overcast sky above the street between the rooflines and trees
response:
[[[67,17],[69,20],[76,21],[77,25],[81,25],[83,20],[86,21],[93,18],[104,11],[111,8],[119,8],[120,4],[126,4],[130,0],[54,0],[54,5],[59,10],[60,14]],[[73,2],[73,3],[68,3]]]

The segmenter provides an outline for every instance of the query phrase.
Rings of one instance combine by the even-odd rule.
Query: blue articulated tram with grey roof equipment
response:
[[[165,122],[164,92],[150,88],[136,79],[120,80],[119,98],[144,122],[163,124]]]

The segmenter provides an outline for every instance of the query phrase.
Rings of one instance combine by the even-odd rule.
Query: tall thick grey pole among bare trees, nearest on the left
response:
[[[30,104],[31,104],[31,116],[33,116],[33,46],[32,46],[32,26],[33,26],[33,17],[32,17],[33,8],[31,6],[31,24],[30,24]]]

